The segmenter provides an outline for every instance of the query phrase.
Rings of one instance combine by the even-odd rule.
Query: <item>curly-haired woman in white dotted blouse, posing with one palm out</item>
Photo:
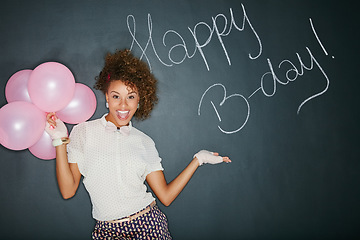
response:
[[[54,113],[47,116],[60,192],[65,199],[74,196],[83,176],[97,220],[93,239],[171,239],[166,216],[147,192],[145,180],[169,206],[200,165],[231,162],[202,150],[166,182],[153,140],[131,124],[133,117],[150,116],[158,100],[156,83],[144,62],[129,50],[117,51],[106,56],[95,85],[105,94],[109,113],[75,126],[71,141],[64,123]]]

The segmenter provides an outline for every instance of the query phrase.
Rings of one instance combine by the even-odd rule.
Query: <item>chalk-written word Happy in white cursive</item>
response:
[[[180,33],[178,33],[175,30],[167,30],[163,36],[162,36],[162,44],[166,47],[166,38],[168,35],[172,34],[175,37],[179,38],[180,43],[175,44],[173,46],[170,47],[170,50],[168,51],[168,56],[167,56],[167,60],[169,60],[168,63],[166,63],[157,53],[156,47],[154,45],[154,40],[152,37],[152,30],[153,30],[153,24],[152,24],[152,18],[151,15],[148,14],[148,19],[147,19],[147,23],[148,23],[148,34],[149,37],[146,41],[145,44],[141,44],[137,38],[136,38],[136,20],[135,17],[133,15],[128,15],[127,16],[127,27],[129,30],[129,33],[132,37],[132,42],[130,45],[130,50],[132,50],[134,48],[134,46],[138,47],[141,51],[141,56],[140,59],[145,58],[145,61],[148,63],[150,69],[151,69],[151,63],[149,60],[149,57],[147,56],[147,51],[149,48],[151,48],[156,56],[156,58],[159,60],[159,62],[167,67],[171,67],[174,64],[181,64],[182,62],[184,62],[186,59],[190,59],[192,57],[195,56],[195,54],[197,52],[199,52],[199,54],[201,55],[204,64],[206,66],[206,69],[209,71],[210,70],[210,66],[208,64],[208,61],[206,59],[206,54],[204,53],[204,49],[205,47],[211,42],[211,40],[213,39],[213,36],[215,35],[215,37],[218,39],[225,57],[227,59],[227,62],[229,65],[231,65],[231,60],[230,60],[230,56],[229,53],[227,51],[227,48],[224,44],[223,38],[227,37],[230,35],[230,33],[232,32],[233,29],[236,29],[237,31],[244,31],[245,30],[245,25],[249,25],[252,34],[254,34],[256,40],[257,40],[257,44],[259,45],[259,50],[257,51],[256,54],[251,54],[249,53],[249,58],[254,60],[257,59],[261,53],[262,53],[262,43],[260,40],[260,37],[258,36],[257,32],[255,31],[254,27],[252,26],[249,17],[246,14],[246,10],[243,4],[241,4],[242,7],[242,13],[243,13],[243,19],[242,19],[242,24],[239,27],[239,25],[236,23],[235,17],[234,17],[234,13],[232,8],[230,8],[230,24],[228,24],[228,19],[224,14],[217,14],[215,17],[212,17],[212,24],[209,25],[206,22],[198,22],[197,24],[195,24],[195,26],[193,28],[188,27],[188,30],[194,40],[195,43],[195,48],[191,49],[191,54],[189,54],[189,49],[188,46],[184,40],[184,38],[182,37],[182,35]],[[219,20],[223,20],[223,25],[221,25]],[[198,36],[198,31],[200,27],[205,27],[205,29],[207,29],[208,34],[206,35],[207,38],[204,42],[199,42],[199,36]],[[203,29],[203,28],[202,28]],[[203,33],[203,32],[202,32]],[[181,58],[181,60],[174,60],[172,57],[172,52],[174,51],[174,49],[178,49],[178,48],[182,48],[184,50],[184,55]]]

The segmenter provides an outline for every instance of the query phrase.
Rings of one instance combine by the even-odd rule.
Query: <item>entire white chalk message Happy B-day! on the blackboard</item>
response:
[[[127,26],[128,26],[129,33],[132,37],[130,50],[132,50],[134,47],[138,47],[141,51],[140,59],[144,58],[144,60],[148,63],[150,69],[151,69],[150,58],[147,55],[149,50],[152,50],[153,53],[155,54],[157,60],[166,67],[172,67],[174,65],[181,64],[186,59],[191,59],[197,53],[199,53],[202,57],[202,60],[205,64],[206,69],[208,71],[210,71],[210,66],[209,66],[207,58],[206,58],[206,51],[205,51],[206,46],[214,38],[217,39],[223,52],[224,52],[227,63],[229,65],[232,65],[231,58],[230,58],[229,52],[227,50],[227,47],[223,41],[223,38],[228,37],[233,29],[235,29],[239,32],[244,31],[245,25],[248,25],[249,29],[251,30],[251,33],[255,36],[254,39],[256,39],[257,45],[258,45],[258,50],[256,51],[256,53],[255,54],[248,53],[248,57],[251,60],[256,60],[257,58],[259,58],[262,55],[262,51],[263,51],[261,39],[260,39],[259,35],[257,34],[255,28],[251,24],[251,21],[246,13],[244,5],[241,4],[241,7],[242,7],[242,14],[243,14],[241,26],[237,24],[235,17],[234,17],[233,10],[232,10],[232,8],[230,8],[229,9],[229,12],[230,12],[229,19],[230,20],[228,20],[228,18],[224,14],[220,13],[220,14],[217,14],[215,17],[211,18],[211,22],[212,22],[211,24],[201,21],[201,22],[198,22],[197,24],[195,24],[194,27],[192,27],[192,28],[188,27],[188,31],[191,34],[191,39],[194,41],[192,43],[192,45],[195,46],[195,47],[193,47],[193,49],[189,49],[187,42],[184,40],[183,36],[179,32],[177,32],[173,29],[167,30],[162,35],[163,46],[170,47],[168,50],[168,53],[167,53],[167,57],[160,57],[156,50],[157,48],[155,47],[153,35],[152,35],[153,24],[152,24],[151,15],[148,14],[148,18],[147,18],[148,38],[147,38],[146,42],[143,44],[141,44],[136,37],[135,17],[133,15],[128,15],[127,16]],[[315,27],[314,27],[314,24],[313,24],[311,18],[309,19],[309,21],[310,21],[310,26],[311,26],[314,36],[316,37],[316,39],[317,39],[318,43],[320,44],[321,48],[323,49],[324,53],[326,55],[328,55],[327,51],[325,50],[324,45],[322,44],[319,36],[316,33],[316,30],[315,30]],[[200,31],[199,29],[201,29],[201,34],[199,33],[199,31]],[[204,29],[206,32],[206,34],[205,34],[206,37],[205,37],[204,41],[200,42],[199,34],[202,36],[202,38],[204,38],[203,37]],[[170,35],[172,35],[173,38],[175,37],[176,39],[178,39],[179,42],[175,45],[168,46],[167,38],[170,37]],[[271,61],[271,59],[267,58],[267,66],[269,67],[269,70],[261,76],[260,81],[259,81],[260,86],[254,92],[252,92],[248,97],[245,97],[243,94],[239,94],[239,93],[233,93],[228,96],[226,87],[223,84],[216,83],[216,84],[211,85],[210,87],[208,87],[205,90],[205,92],[201,96],[199,106],[198,106],[198,115],[199,116],[201,115],[201,108],[203,106],[203,101],[204,101],[204,98],[207,95],[207,93],[211,89],[221,88],[223,91],[222,101],[218,104],[215,104],[213,101],[210,101],[210,104],[213,107],[215,114],[219,120],[219,124],[217,127],[222,133],[225,133],[225,134],[237,133],[241,129],[244,128],[244,126],[246,125],[246,123],[249,120],[249,117],[250,117],[250,102],[249,102],[249,100],[250,100],[250,98],[252,98],[257,93],[262,93],[266,97],[273,97],[277,92],[277,86],[279,84],[286,86],[286,85],[290,84],[291,82],[296,81],[298,77],[303,76],[305,74],[305,70],[312,71],[316,68],[316,69],[320,70],[320,72],[322,73],[322,75],[325,79],[324,87],[320,91],[314,93],[310,97],[307,97],[305,100],[303,100],[300,103],[300,105],[298,106],[298,109],[297,109],[297,114],[299,114],[300,110],[302,109],[304,104],[308,103],[310,100],[312,100],[316,97],[323,95],[328,90],[329,84],[330,84],[330,81],[329,81],[329,78],[328,78],[326,72],[321,67],[320,63],[317,61],[317,59],[315,58],[315,56],[312,53],[312,51],[310,50],[310,48],[305,47],[305,49],[310,57],[310,62],[306,63],[306,64],[304,63],[300,54],[297,52],[295,53],[295,55],[297,57],[296,63],[293,61],[290,61],[289,59],[283,59],[277,65],[273,65],[273,62]],[[173,54],[175,50],[176,50],[177,60],[174,58],[175,54]],[[179,52],[183,53],[183,55],[181,55],[180,58],[178,57]],[[332,56],[332,58],[334,58],[334,56]],[[278,70],[280,70],[280,69],[286,70],[284,76],[281,76],[278,73]],[[265,82],[267,84],[265,84]],[[243,119],[242,120],[235,119],[235,121],[238,121],[238,127],[236,129],[226,129],[226,127],[222,125],[223,116],[221,116],[221,114],[218,111],[218,108],[222,107],[226,103],[226,101],[229,100],[230,98],[239,98],[241,100],[240,103],[241,104],[245,103],[245,105],[246,105],[246,110],[242,117]]]

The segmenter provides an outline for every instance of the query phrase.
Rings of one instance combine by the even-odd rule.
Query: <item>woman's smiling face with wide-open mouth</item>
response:
[[[122,81],[112,81],[106,93],[109,114],[105,117],[117,127],[127,126],[134,116],[140,100],[136,88],[130,88]]]

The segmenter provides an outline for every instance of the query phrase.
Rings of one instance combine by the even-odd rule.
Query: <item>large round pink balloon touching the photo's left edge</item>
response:
[[[34,145],[43,134],[46,115],[34,104],[16,101],[0,109],[1,144],[12,150]]]

